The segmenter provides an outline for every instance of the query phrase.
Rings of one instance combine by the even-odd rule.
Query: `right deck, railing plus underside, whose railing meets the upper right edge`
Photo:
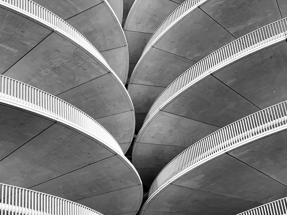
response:
[[[287,20],[223,46],[175,79],[156,99],[133,147],[144,184],[204,136],[287,99]]]

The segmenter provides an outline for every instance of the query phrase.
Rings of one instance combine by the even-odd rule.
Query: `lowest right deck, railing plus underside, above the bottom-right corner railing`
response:
[[[153,181],[141,214],[237,214],[287,195],[287,101],[206,136]]]

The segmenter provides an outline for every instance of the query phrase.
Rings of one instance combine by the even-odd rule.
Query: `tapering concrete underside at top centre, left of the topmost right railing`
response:
[[[185,0],[136,0],[125,21],[124,32],[129,47],[129,77],[146,43],[158,26]]]

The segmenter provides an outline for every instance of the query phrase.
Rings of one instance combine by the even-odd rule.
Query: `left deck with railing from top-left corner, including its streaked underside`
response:
[[[125,152],[134,134],[133,104],[100,52],[63,19],[29,0],[0,0],[0,19],[0,74],[80,108]]]

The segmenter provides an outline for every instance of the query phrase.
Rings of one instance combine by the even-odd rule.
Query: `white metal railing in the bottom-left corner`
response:
[[[2,183],[0,195],[1,215],[102,215],[69,200]]]

